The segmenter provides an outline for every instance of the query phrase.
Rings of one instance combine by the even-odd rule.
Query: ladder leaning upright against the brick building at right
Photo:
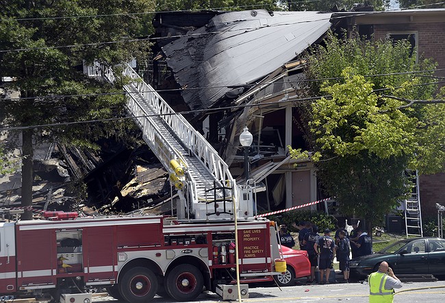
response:
[[[405,199],[405,228],[408,236],[423,237],[422,211],[420,210],[419,176],[417,171],[407,171],[411,180],[411,193]]]

